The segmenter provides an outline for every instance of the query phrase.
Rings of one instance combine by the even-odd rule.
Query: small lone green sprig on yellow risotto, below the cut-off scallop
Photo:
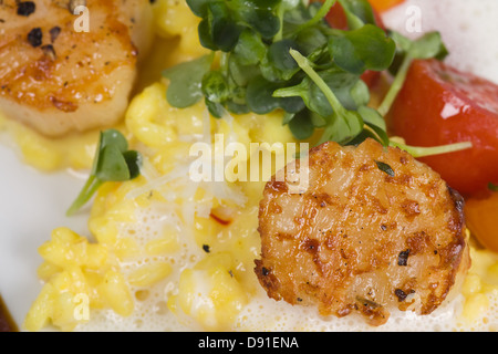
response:
[[[136,178],[139,175],[141,162],[141,154],[128,150],[128,143],[118,131],[101,132],[90,177],[66,215],[71,216],[80,210],[105,181]]]

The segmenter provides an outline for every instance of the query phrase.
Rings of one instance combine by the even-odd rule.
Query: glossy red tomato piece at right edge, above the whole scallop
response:
[[[421,158],[461,195],[486,194],[489,183],[498,184],[498,86],[494,83],[437,60],[415,61],[387,124],[392,135],[412,146],[471,142],[470,149]]]

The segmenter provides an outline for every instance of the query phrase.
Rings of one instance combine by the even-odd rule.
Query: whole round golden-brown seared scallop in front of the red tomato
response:
[[[393,309],[429,314],[470,263],[463,204],[401,149],[325,143],[310,150],[307,190],[267,184],[256,273],[270,298],[322,315],[361,313],[382,325]]]

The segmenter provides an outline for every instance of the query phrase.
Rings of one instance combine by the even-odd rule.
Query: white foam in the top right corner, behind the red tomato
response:
[[[385,13],[390,29],[418,38],[422,32],[439,31],[448,48],[446,62],[498,84],[498,1],[496,0],[407,0]]]

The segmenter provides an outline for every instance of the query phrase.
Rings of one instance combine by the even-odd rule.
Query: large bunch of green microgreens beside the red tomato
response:
[[[340,2],[350,30],[325,20]],[[210,114],[283,111],[297,139],[320,131],[319,144],[359,144],[367,137],[393,145],[384,116],[415,59],[443,59],[440,35],[412,41],[378,28],[367,0],[187,0],[201,22],[200,43],[218,55],[203,56],[165,72],[169,103],[191,105],[204,97]],[[216,60],[215,60],[216,59]],[[401,65],[400,65],[401,63]],[[369,107],[365,71],[395,74],[378,110]],[[406,147],[397,144],[398,147]],[[450,145],[429,153],[467,148]],[[411,147],[416,149],[416,147]],[[427,152],[423,152],[427,153]]]

